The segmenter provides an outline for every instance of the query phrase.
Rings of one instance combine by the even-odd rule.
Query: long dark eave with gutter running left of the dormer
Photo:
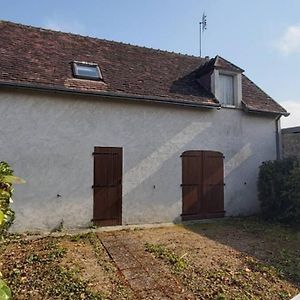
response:
[[[141,102],[153,102],[160,104],[170,104],[178,106],[188,106],[188,107],[197,107],[197,108],[207,108],[220,109],[221,105],[219,103],[197,103],[194,101],[187,100],[178,100],[157,96],[144,96],[144,95],[134,95],[126,93],[115,93],[115,92],[101,92],[101,91],[83,91],[79,89],[71,89],[62,86],[48,86],[42,84],[32,84],[32,83],[12,83],[12,82],[0,82],[0,87],[4,88],[16,88],[16,89],[26,89],[26,90],[35,90],[35,91],[44,91],[44,92],[54,92],[62,94],[75,94],[81,96],[93,96],[93,97],[103,97],[103,98],[113,98],[119,100],[132,100],[132,101],[141,101]]]

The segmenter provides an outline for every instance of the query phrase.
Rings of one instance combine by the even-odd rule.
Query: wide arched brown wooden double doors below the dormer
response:
[[[223,155],[191,150],[182,154],[182,219],[224,216]]]

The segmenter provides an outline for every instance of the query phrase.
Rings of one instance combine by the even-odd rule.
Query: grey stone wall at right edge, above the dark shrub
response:
[[[283,157],[300,159],[300,126],[282,129],[281,134]]]

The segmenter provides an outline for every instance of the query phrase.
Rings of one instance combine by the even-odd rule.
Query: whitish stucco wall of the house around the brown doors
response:
[[[123,147],[124,224],[180,220],[185,150],[225,155],[228,216],[258,210],[258,166],[276,157],[274,120],[235,109],[6,90],[0,115],[0,159],[27,181],[15,187],[17,231],[89,224],[94,146]]]

